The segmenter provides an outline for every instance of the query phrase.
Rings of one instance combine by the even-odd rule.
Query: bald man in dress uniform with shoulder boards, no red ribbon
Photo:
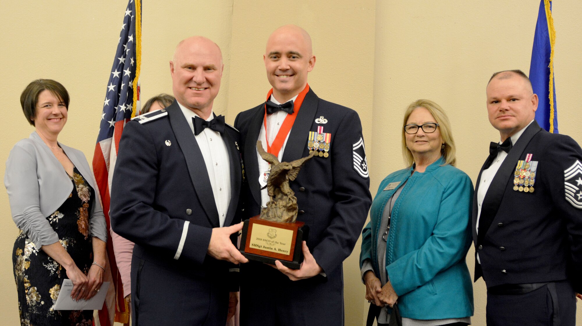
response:
[[[111,224],[136,244],[133,325],[224,326],[236,297],[242,164],[239,133],[212,112],[222,70],[217,44],[183,40],[170,62],[176,101],[123,130]]]

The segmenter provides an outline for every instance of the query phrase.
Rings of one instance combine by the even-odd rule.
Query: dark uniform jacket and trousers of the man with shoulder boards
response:
[[[136,244],[133,325],[208,325],[209,318],[224,325],[237,272],[207,254],[220,222],[200,147],[178,102],[140,117],[123,129],[111,186],[113,231]],[[240,221],[240,140],[232,127],[221,137],[230,158],[229,226]]]

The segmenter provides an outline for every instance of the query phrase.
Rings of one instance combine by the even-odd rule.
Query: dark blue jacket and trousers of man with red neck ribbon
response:
[[[261,103],[241,112],[235,120],[247,176],[241,190],[245,208],[242,219],[260,214],[258,178],[262,171],[258,169],[257,140],[264,115],[265,105]],[[306,162],[289,186],[297,197],[297,221],[309,226],[307,247],[326,277],[317,275],[293,282],[265,264],[242,264],[241,325],[267,325],[272,320],[268,318],[285,320],[283,324],[288,325],[343,325],[342,263],[352,253],[370,209],[370,179],[357,112],[322,100],[311,89],[289,132],[282,161],[309,155],[309,133],[317,132],[318,127],[331,133],[329,156]],[[275,297],[276,300],[271,299]],[[270,302],[265,306],[253,298]]]

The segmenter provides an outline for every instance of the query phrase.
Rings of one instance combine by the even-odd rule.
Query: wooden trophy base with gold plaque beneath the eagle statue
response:
[[[304,222],[275,222],[257,216],[244,221],[240,252],[249,260],[275,264],[275,260],[294,270],[303,262],[301,245],[307,240],[309,226]]]

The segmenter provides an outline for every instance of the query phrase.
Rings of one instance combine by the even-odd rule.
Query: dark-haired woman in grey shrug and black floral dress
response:
[[[4,185],[16,226],[12,261],[22,325],[91,325],[93,310],[54,310],[63,279],[71,297],[90,299],[102,284],[107,232],[85,155],[57,141],[67,121],[69,94],[38,79],[20,96],[35,132],[6,161]]]

